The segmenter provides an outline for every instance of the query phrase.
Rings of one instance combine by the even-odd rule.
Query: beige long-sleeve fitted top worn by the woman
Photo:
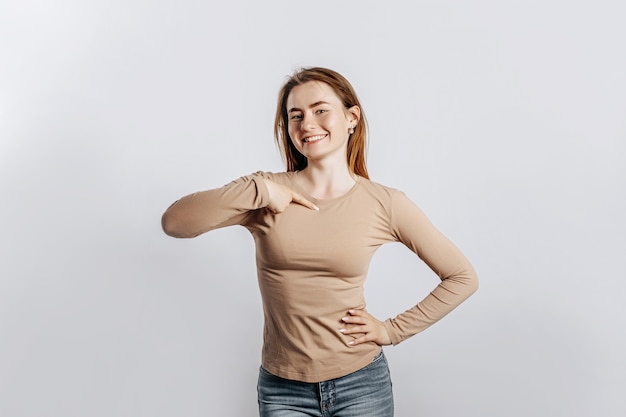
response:
[[[320,210],[291,204],[270,213],[260,178],[293,188]],[[402,242],[441,279],[417,305],[384,322],[394,345],[441,319],[478,285],[465,256],[405,194],[361,177],[341,197],[317,200],[298,187],[292,172],[258,172],[183,197],[168,208],[163,224],[175,237],[236,224],[252,233],[265,316],[262,366],[287,379],[341,377],[380,352],[375,343],[349,346],[357,336],[338,329],[348,310],[365,308],[370,260],[386,242]]]

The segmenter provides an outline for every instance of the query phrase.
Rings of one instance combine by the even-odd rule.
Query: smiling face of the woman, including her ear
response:
[[[358,106],[346,109],[328,84],[309,81],[291,90],[286,109],[291,142],[309,162],[333,158],[347,163],[349,131],[359,120]]]

